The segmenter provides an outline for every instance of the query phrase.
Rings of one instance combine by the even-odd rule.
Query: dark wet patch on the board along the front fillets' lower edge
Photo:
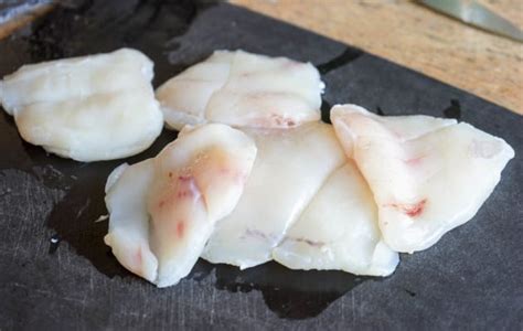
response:
[[[334,270],[292,270],[276,261],[241,270],[203,259],[194,266],[189,278],[202,280],[213,270],[217,289],[230,292],[260,291],[267,307],[285,319],[313,318],[357,285],[375,278]]]

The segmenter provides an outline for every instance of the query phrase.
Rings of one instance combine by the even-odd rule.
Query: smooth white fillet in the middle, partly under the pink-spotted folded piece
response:
[[[306,124],[292,129],[249,129],[258,148],[244,193],[223,218],[202,255],[209,261],[253,267],[300,216],[330,173],[345,162],[332,126]]]

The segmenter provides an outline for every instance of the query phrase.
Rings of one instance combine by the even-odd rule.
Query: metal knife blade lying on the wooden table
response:
[[[523,31],[473,0],[418,0],[436,11],[482,30],[523,42]]]

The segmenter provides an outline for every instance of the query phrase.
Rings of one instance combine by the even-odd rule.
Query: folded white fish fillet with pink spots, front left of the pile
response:
[[[255,157],[245,134],[213,124],[182,131],[122,174],[116,169],[107,184],[106,243],[126,268],[158,287],[179,282],[214,224],[235,207]]]

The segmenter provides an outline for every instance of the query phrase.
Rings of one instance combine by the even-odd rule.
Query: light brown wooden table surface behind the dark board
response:
[[[231,2],[361,47],[523,114],[522,43],[404,0]],[[480,2],[523,28],[523,0]],[[0,38],[33,17],[0,25]]]

